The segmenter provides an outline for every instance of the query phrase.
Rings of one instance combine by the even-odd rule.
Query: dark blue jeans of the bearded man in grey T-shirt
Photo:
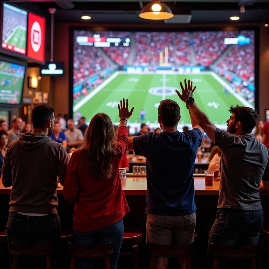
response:
[[[211,228],[208,248],[207,267],[213,268],[214,257],[209,254],[211,243],[238,249],[259,242],[260,229],[263,228],[263,210],[237,210],[221,208]],[[250,268],[250,261],[243,260],[242,268]],[[219,260],[219,268],[226,268],[227,260]]]

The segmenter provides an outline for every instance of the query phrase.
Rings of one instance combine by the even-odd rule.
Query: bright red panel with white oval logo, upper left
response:
[[[28,13],[27,56],[30,59],[44,62],[45,19]]]

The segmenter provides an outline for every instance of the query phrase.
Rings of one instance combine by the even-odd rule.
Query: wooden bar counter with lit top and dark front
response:
[[[143,232],[142,241],[139,243],[139,268],[149,268],[149,256],[146,249],[146,192],[147,183],[145,175],[132,175],[128,174],[126,180],[122,180],[122,188],[125,193],[130,212],[123,218],[125,226],[134,226],[139,228]],[[214,180],[213,186],[205,186],[203,174],[194,174],[194,188],[195,188],[195,201],[196,201],[196,232],[199,233],[198,238],[195,241],[197,249],[199,249],[198,260],[201,264],[201,268],[204,266],[208,235],[206,229],[210,228],[216,218],[218,211],[218,194],[219,194],[219,181]],[[35,181],[33,180],[33,183]],[[63,197],[63,186],[57,188],[58,215],[60,216],[61,225],[73,224],[73,210],[74,204],[69,204]],[[0,231],[4,231],[6,222],[8,220],[9,211],[9,198],[11,187],[5,188],[0,180]],[[269,193],[261,193],[261,203],[264,212],[264,223],[269,223],[268,220],[268,205],[269,205]],[[176,261],[175,261],[176,262]],[[118,268],[126,268],[126,264],[129,264],[130,260],[119,259]],[[169,263],[170,264],[170,263]],[[175,263],[174,263],[175,264]],[[168,268],[176,268],[171,264]],[[66,267],[67,268],[67,267]]]

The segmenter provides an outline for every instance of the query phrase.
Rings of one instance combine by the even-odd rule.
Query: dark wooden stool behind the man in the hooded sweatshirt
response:
[[[49,254],[54,252],[53,242],[26,247],[10,242],[10,253],[13,255],[12,269],[17,269],[18,257],[45,257],[46,268],[50,269]]]

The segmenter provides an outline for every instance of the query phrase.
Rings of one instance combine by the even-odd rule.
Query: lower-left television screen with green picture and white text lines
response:
[[[20,105],[23,94],[25,63],[0,58],[0,105]]]

